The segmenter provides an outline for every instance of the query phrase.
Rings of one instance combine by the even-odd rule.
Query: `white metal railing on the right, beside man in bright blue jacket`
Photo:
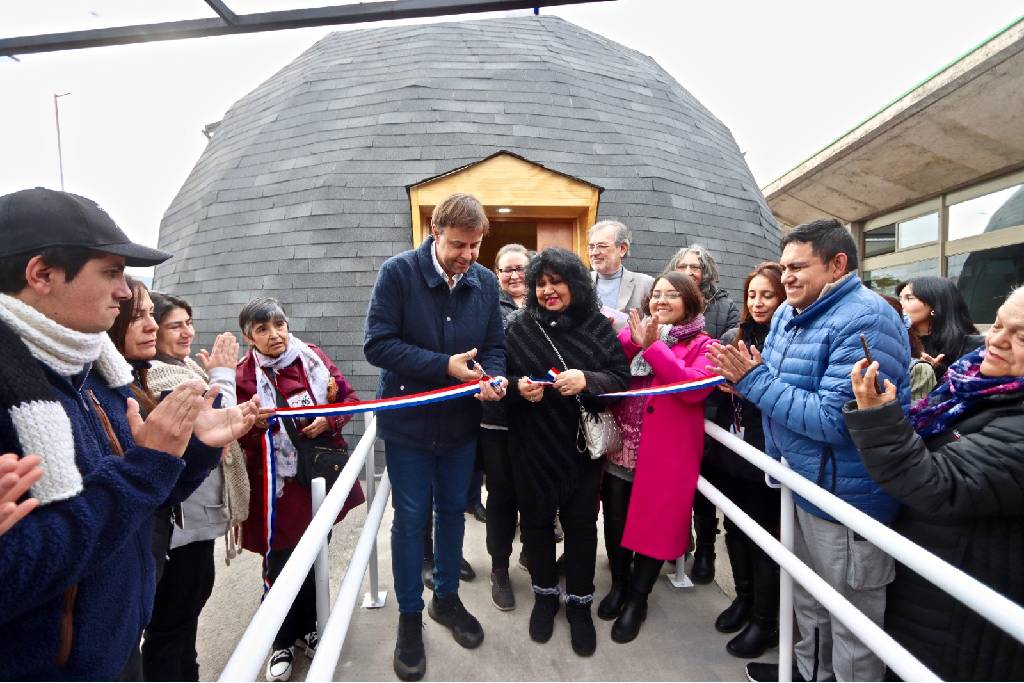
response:
[[[908,681],[939,680],[927,667],[906,651],[878,625],[864,616],[846,598],[801,562],[793,553],[794,506],[792,492],[827,512],[837,521],[871,542],[916,573],[955,597],[965,605],[1024,642],[1024,607],[1004,597],[977,579],[943,561],[933,553],[900,536],[849,503],[800,476],[784,464],[769,458],[735,434],[706,420],[705,431],[733,453],[764,471],[782,485],[781,542],[740,510],[715,486],[700,477],[697,488],[723,514],[736,523],[752,541],[778,562],[779,583],[779,666],[778,680],[788,683],[793,663],[793,580],[796,579],[826,609],[847,626],[865,646],[874,651],[900,678]]]

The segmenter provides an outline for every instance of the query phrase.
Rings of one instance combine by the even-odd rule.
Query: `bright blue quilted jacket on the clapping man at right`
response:
[[[799,313],[788,304],[780,306],[765,340],[765,361],[736,386],[761,409],[769,456],[784,457],[803,477],[888,522],[899,504],[868,476],[843,419],[843,404],[853,399],[850,371],[864,356],[862,334],[905,411],[910,402],[906,330],[896,311],[856,274]],[[833,520],[795,498],[811,514]]]

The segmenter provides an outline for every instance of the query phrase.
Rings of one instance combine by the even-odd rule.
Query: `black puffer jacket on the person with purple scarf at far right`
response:
[[[927,441],[897,403],[844,414],[867,471],[904,506],[893,528],[1024,603],[1024,403],[985,401]],[[886,631],[943,680],[1024,680],[1024,645],[898,562]]]

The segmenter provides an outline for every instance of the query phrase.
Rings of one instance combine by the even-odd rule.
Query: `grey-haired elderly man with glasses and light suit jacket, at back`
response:
[[[591,278],[597,287],[597,296],[606,308],[629,312],[640,308],[644,296],[650,291],[654,279],[642,272],[627,270],[623,259],[630,252],[630,228],[617,220],[594,223],[587,232],[587,252],[590,254]],[[612,321],[615,330],[626,326],[626,316]]]

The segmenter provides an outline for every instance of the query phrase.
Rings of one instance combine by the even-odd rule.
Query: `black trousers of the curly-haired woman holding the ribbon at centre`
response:
[[[522,541],[536,588],[558,586],[555,537],[551,532],[557,512],[565,532],[565,592],[579,597],[593,595],[602,466],[600,460],[581,462],[575,488],[561,500],[538,496],[522,470],[514,468]]]

